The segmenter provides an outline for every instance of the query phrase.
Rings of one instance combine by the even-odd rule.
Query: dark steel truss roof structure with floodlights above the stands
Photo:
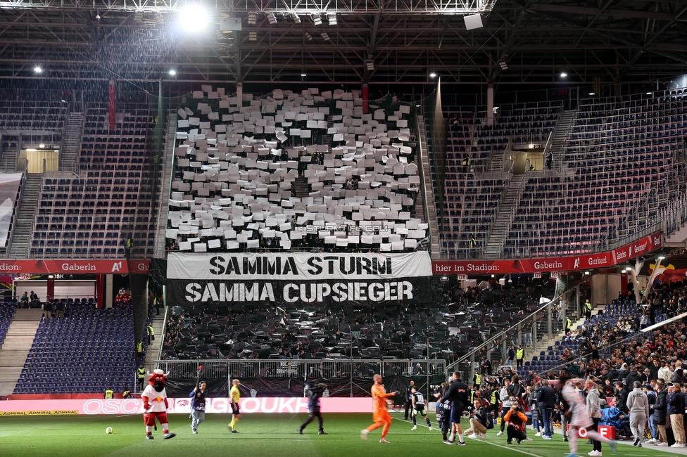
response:
[[[183,33],[194,5],[208,30]],[[0,1],[1,79],[652,82],[687,73],[685,42],[682,0]]]

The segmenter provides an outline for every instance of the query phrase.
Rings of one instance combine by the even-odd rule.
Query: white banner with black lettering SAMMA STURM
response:
[[[334,252],[172,252],[167,263],[168,279],[185,280],[379,280],[431,275],[429,252],[424,251],[386,255]]]

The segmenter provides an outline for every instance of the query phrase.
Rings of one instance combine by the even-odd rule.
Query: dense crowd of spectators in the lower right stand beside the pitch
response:
[[[614,326],[600,321],[601,325],[584,326],[570,337],[580,341],[579,350],[566,349],[560,363],[552,371],[528,371],[518,376],[510,367],[502,367],[489,375],[476,376],[474,385],[479,397],[491,408],[495,417],[510,411],[512,384],[522,385],[522,407],[531,414],[531,426],[536,436],[550,437],[553,424],[561,425],[563,439],[567,440],[565,411],[560,391],[554,390],[551,401],[548,386],[557,385],[562,375],[579,379],[576,389],[586,398],[590,390],[598,390],[600,397],[600,425],[611,425],[617,437],[636,439],[636,430],[630,427],[630,392],[644,392],[648,398],[650,414],[647,418],[651,438],[646,442],[657,446],[684,446],[686,432],[682,416],[686,413],[687,367],[683,361],[687,354],[687,323],[684,319],[640,333],[655,319],[656,312],[667,316],[681,314],[686,305],[687,288],[683,283],[658,284],[643,299],[639,314],[626,316]],[[642,322],[645,316],[645,322]],[[585,380],[592,382],[585,383]],[[634,387],[640,386],[636,389]],[[544,400],[543,400],[544,399]],[[544,411],[543,405],[546,404]],[[548,411],[550,410],[550,411]],[[551,425],[546,423],[550,414]],[[503,427],[502,427],[503,430]],[[635,442],[636,445],[641,444]]]

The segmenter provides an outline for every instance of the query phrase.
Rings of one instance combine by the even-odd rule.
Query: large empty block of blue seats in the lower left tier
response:
[[[42,318],[14,393],[131,389],[134,330],[130,305],[96,309],[93,299],[66,302],[64,318]]]

